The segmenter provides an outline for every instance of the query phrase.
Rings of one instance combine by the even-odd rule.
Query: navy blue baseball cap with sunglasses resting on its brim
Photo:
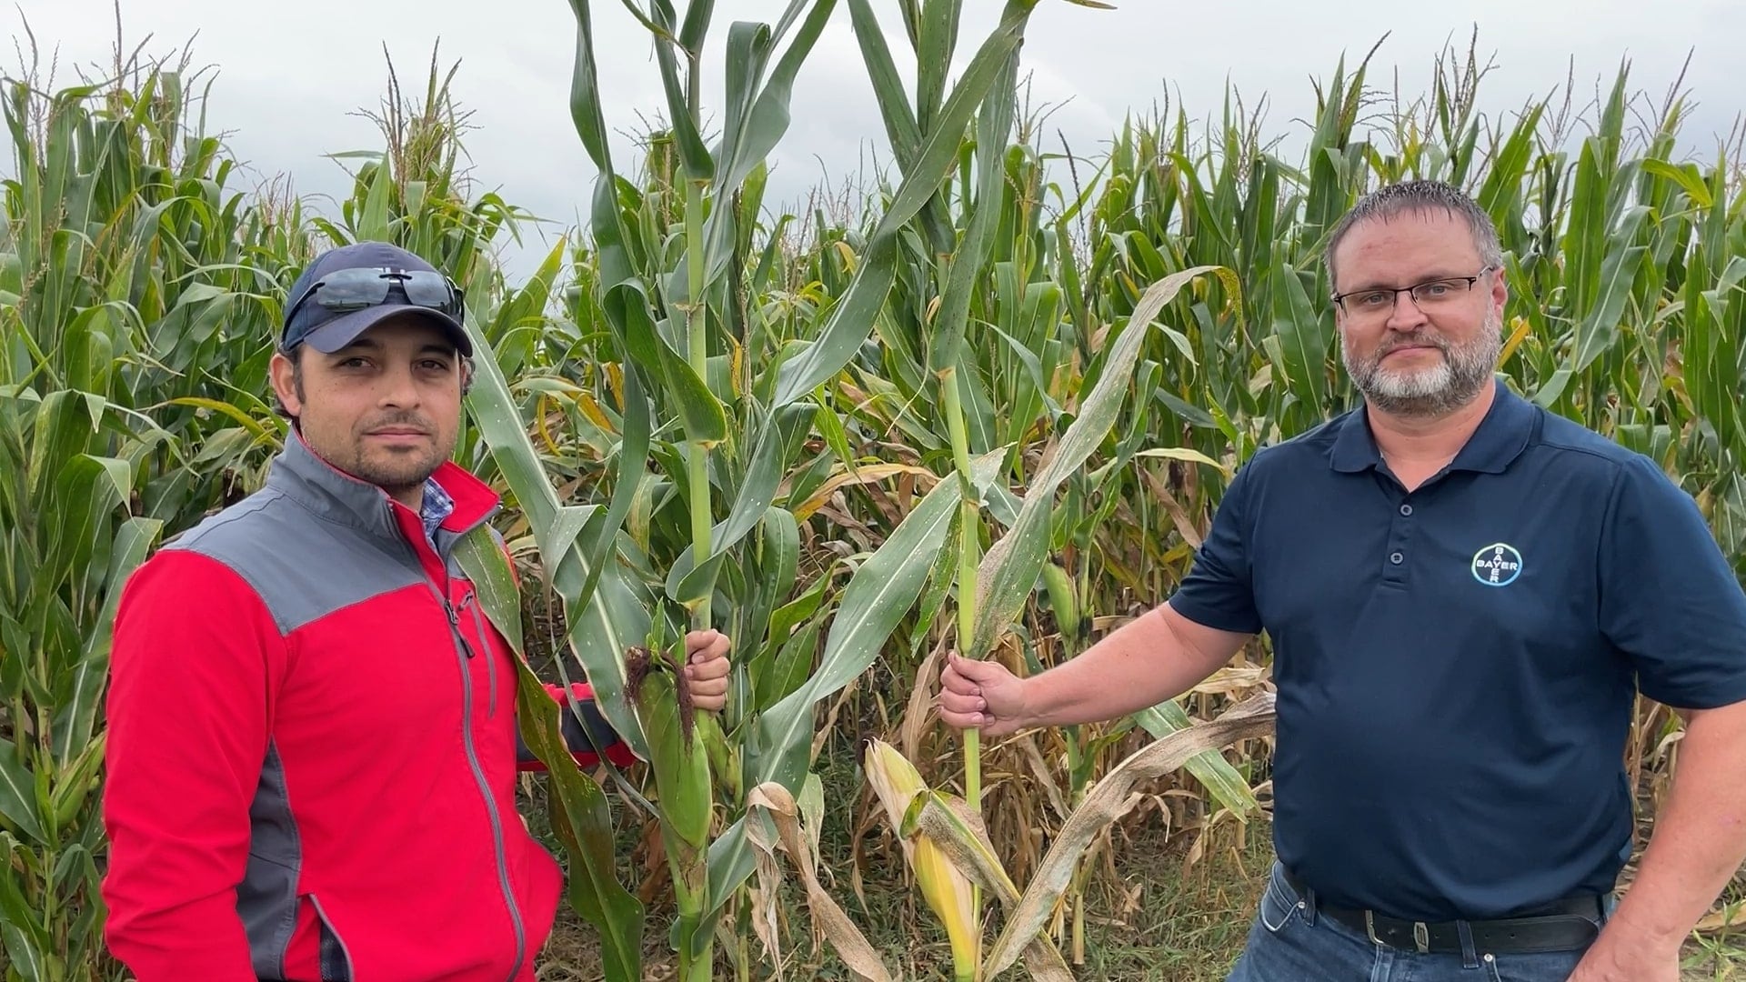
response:
[[[461,288],[417,255],[377,241],[332,248],[304,269],[285,299],[279,349],[309,344],[332,355],[402,313],[442,327],[461,355],[473,355],[461,328]]]

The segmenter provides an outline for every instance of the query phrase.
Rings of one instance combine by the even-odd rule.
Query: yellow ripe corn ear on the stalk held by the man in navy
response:
[[[890,828],[901,830],[910,802],[929,790],[927,783],[896,746],[880,739],[868,743],[864,764],[868,783],[873,785],[873,793],[885,807]],[[897,839],[910,868],[915,870],[915,886],[920,889],[922,900],[946,928],[946,938],[952,942],[953,975],[960,982],[976,979],[983,938],[969,877],[959,872],[927,835],[911,839],[899,832]]]

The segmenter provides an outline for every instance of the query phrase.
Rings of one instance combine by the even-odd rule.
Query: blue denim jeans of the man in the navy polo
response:
[[[1364,931],[1320,916],[1273,863],[1243,958],[1226,982],[1564,982],[1582,954],[1475,951],[1468,959],[1378,945]]]

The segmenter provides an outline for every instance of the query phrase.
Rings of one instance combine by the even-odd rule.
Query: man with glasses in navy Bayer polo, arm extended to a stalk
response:
[[[1678,982],[1746,860],[1746,594],[1652,460],[1496,381],[1503,257],[1465,194],[1378,190],[1327,264],[1364,407],[1236,472],[1170,603],[1023,680],[953,655],[941,716],[1119,718],[1266,631],[1278,863],[1233,980]],[[1638,690],[1687,730],[1615,907]]]

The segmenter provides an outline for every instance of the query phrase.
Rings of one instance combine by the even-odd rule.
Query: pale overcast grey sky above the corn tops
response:
[[[684,0],[674,3],[683,12]],[[1217,115],[1227,82],[1250,105],[1268,96],[1269,135],[1301,138],[1315,107],[1310,80],[1329,79],[1343,54],[1353,63],[1388,33],[1372,61],[1372,84],[1393,87],[1399,73],[1400,91],[1419,94],[1428,91],[1435,56],[1451,44],[1465,52],[1475,26],[1481,61],[1496,63],[1481,87],[1482,107],[1493,115],[1507,117],[1561,86],[1571,70],[1582,107],[1624,59],[1633,66],[1633,89],[1659,101],[1687,56],[1685,87],[1697,101],[1687,126],[1688,150],[1715,159],[1720,140],[1746,114],[1746,3],[1739,0],[1116,3],[1116,10],[1093,10],[1042,0],[1032,16],[1023,65],[1034,101],[1058,107],[1048,121],[1049,150],[1060,149],[1053,135],[1060,129],[1077,154],[1095,156],[1126,112],[1165,100],[1175,105],[1180,98],[1191,117]],[[904,59],[896,3],[873,5]],[[576,31],[566,0],[122,0],[120,7],[126,47],[150,35],[148,52],[189,47],[196,65],[217,72],[210,126],[227,133],[257,180],[292,175],[306,196],[344,192],[342,163],[323,156],[379,149],[374,124],[354,112],[375,108],[386,91],[384,44],[402,84],[423,89],[440,42],[442,66],[461,63],[454,89],[473,112],[466,150],[475,178],[553,218],[559,229],[574,224],[587,201],[592,166],[567,112]],[[728,23],[775,23],[784,7],[784,0],[718,0],[707,93],[721,89]],[[957,65],[986,37],[1000,3],[966,0],[964,9]],[[23,44],[26,21],[44,61],[58,49],[58,86],[75,80],[75,68],[112,59],[113,0],[14,0],[0,7],[7,38]],[[594,21],[602,86],[613,96],[608,122],[637,131],[639,112],[653,119],[663,107],[648,33],[618,0],[595,0]],[[0,66],[16,77],[17,54],[0,52]],[[913,61],[901,61],[901,68],[913,77]],[[709,107],[719,119],[719,98],[709,98]],[[622,140],[615,156],[620,169],[630,164],[625,150]],[[800,197],[826,168],[842,180],[875,152],[885,159],[883,126],[840,2],[801,70],[793,124],[772,157],[772,189],[779,199]],[[5,171],[12,171],[10,152]],[[320,197],[313,204],[330,210]]]

